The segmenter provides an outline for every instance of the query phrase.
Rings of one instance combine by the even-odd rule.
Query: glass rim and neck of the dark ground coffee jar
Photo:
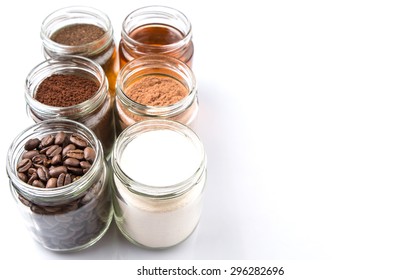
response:
[[[99,88],[89,99],[67,107],[50,106],[39,102],[35,96],[41,82],[54,74],[80,74],[95,80]],[[108,80],[102,67],[96,62],[81,56],[63,55],[57,58],[47,59],[37,66],[26,77],[25,100],[28,105],[28,113],[42,116],[41,119],[71,118],[83,116],[95,111],[106,98]],[[29,112],[31,111],[31,112]]]

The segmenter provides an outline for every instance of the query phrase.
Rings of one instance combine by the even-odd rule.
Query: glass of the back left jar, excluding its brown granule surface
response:
[[[63,28],[89,24],[100,27],[104,34],[94,41],[78,45],[57,43],[52,36]],[[73,35],[74,36],[74,35]],[[86,38],[86,35],[84,35]],[[119,64],[111,21],[103,12],[84,6],[71,6],[48,15],[41,26],[41,40],[46,59],[62,55],[79,55],[94,60],[102,66],[108,78],[111,95],[115,92]]]

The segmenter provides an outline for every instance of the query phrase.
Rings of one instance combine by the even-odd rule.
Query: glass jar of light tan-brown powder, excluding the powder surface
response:
[[[175,79],[187,89],[187,96],[169,106],[147,106],[130,99],[127,88],[150,75]],[[115,111],[117,135],[129,125],[146,119],[171,119],[193,127],[198,114],[195,75],[188,65],[172,57],[150,55],[132,60],[118,74]]]

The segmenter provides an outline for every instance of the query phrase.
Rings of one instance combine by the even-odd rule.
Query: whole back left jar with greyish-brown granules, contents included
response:
[[[105,71],[111,95],[115,91],[119,63],[111,21],[103,12],[70,6],[48,15],[41,26],[45,58],[78,55],[94,60]]]

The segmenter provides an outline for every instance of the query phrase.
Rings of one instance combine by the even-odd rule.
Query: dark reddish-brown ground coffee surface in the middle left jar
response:
[[[91,98],[99,89],[95,81],[73,74],[54,74],[38,86],[35,99],[54,107],[69,107]]]

